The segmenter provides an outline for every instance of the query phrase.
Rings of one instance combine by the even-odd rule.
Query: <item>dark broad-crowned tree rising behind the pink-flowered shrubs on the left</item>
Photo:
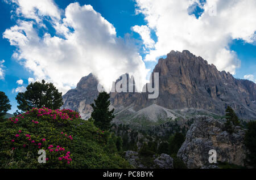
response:
[[[62,102],[62,93],[52,83],[35,82],[27,86],[27,91],[19,92],[16,96],[18,109],[26,112],[32,108],[46,106],[50,109],[59,109]]]

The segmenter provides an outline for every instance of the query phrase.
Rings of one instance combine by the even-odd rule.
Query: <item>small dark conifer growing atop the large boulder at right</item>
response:
[[[239,126],[240,121],[234,110],[230,106],[228,106],[226,108],[225,130],[228,131],[229,133],[232,133],[234,131],[232,125]]]

